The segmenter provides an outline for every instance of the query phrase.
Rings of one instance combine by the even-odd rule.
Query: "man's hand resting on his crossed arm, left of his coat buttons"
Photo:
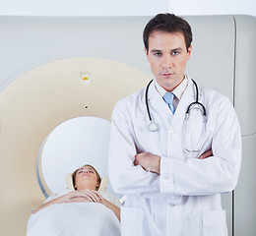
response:
[[[136,154],[134,165],[141,165],[147,171],[160,174],[160,156],[151,152]]]

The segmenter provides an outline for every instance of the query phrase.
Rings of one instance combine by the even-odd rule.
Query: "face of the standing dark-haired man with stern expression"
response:
[[[184,78],[192,46],[186,49],[182,32],[153,31],[149,37],[148,61],[157,82],[165,90],[175,89]]]

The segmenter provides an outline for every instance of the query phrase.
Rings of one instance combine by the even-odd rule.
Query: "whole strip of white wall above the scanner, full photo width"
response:
[[[0,0],[0,16],[256,16],[255,0]]]

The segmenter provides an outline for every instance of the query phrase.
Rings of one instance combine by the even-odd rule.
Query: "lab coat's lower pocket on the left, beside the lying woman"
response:
[[[134,207],[121,207],[121,235],[142,236],[143,209]]]

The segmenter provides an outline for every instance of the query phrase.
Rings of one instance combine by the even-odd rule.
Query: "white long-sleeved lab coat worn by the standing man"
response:
[[[188,86],[174,115],[154,84],[149,105],[159,131],[149,130],[145,89],[117,102],[112,113],[109,179],[114,191],[126,195],[121,207],[122,236],[225,236],[225,212],[220,193],[234,189],[241,163],[241,135],[229,99],[200,88],[199,101],[207,109],[204,145],[190,154],[182,145],[182,125],[195,100]],[[197,121],[193,121],[195,128]],[[193,138],[191,138],[193,139]],[[212,148],[214,156],[198,159]],[[134,166],[136,153],[160,155],[160,175]]]

